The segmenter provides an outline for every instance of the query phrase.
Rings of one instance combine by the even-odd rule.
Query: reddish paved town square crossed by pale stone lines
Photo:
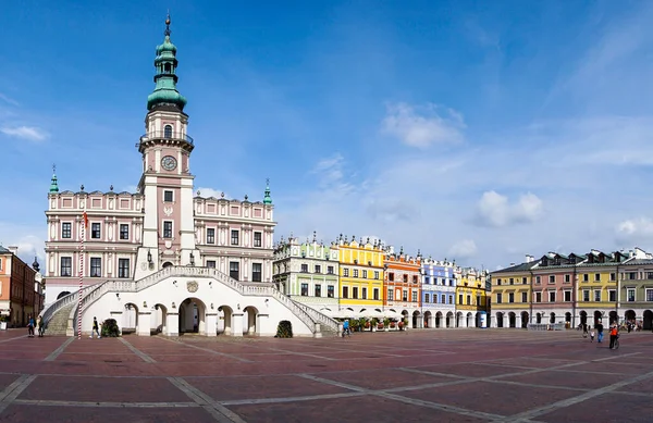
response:
[[[27,338],[0,332],[1,422],[650,422],[653,334]]]

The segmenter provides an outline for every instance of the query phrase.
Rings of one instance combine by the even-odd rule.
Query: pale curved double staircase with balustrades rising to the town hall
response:
[[[82,310],[85,310],[108,293],[138,293],[170,276],[211,277],[242,296],[272,297],[293,312],[297,319],[304,322],[313,335],[337,334],[337,322],[335,320],[286,297],[276,289],[274,284],[238,282],[211,268],[168,266],[136,282],[104,281],[96,285],[87,286],[82,289]],[[41,314],[47,333],[50,335],[74,336],[78,310],[79,291],[69,294],[52,302]]]

